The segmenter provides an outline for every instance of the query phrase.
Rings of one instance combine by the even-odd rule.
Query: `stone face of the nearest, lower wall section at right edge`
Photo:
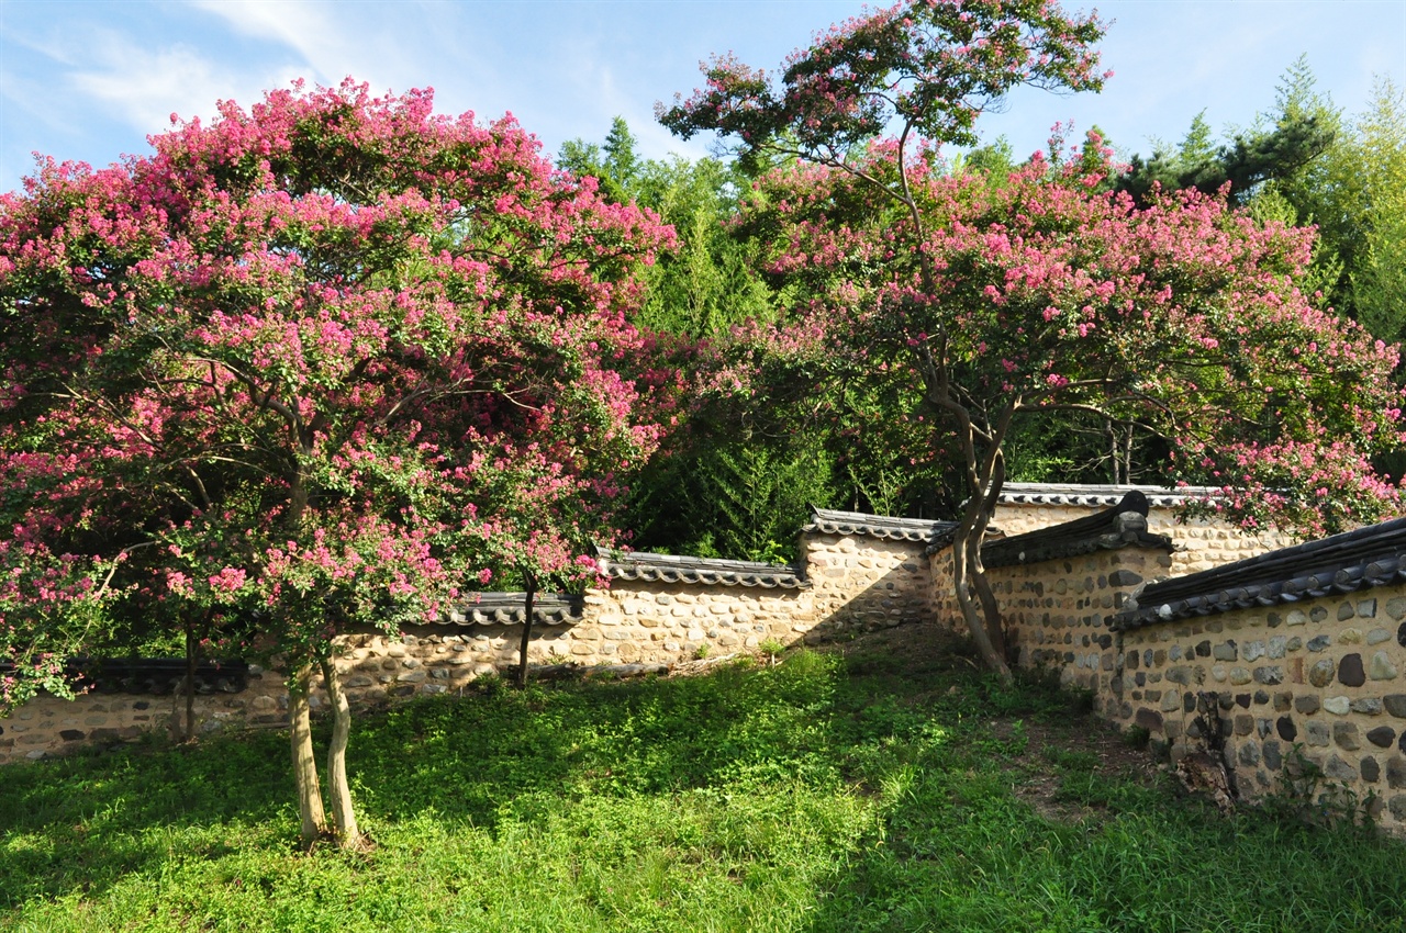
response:
[[[1173,760],[1219,733],[1241,797],[1282,785],[1295,746],[1406,832],[1406,586],[1121,632],[1104,714]]]

